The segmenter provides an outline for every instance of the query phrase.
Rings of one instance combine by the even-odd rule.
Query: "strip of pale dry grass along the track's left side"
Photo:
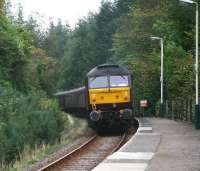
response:
[[[87,122],[82,119],[72,118],[69,115],[66,115],[66,117],[66,128],[63,131],[59,142],[54,145],[42,144],[39,147],[36,146],[34,150],[29,146],[26,146],[20,154],[20,159],[17,160],[13,166],[7,167],[5,171],[27,170],[28,167],[36,162],[43,160],[48,155],[84,136],[87,131]]]

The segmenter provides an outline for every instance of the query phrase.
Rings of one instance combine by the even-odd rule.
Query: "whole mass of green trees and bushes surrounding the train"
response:
[[[199,1],[197,1],[199,2]],[[164,38],[164,98],[167,115],[193,120],[194,6],[178,0],[103,1],[100,11],[75,28],[38,16],[25,21],[0,0],[0,161],[13,163],[26,145],[59,141],[65,119],[53,94],[82,86],[85,74],[106,62],[121,63],[134,76],[135,113],[158,113],[160,47]]]

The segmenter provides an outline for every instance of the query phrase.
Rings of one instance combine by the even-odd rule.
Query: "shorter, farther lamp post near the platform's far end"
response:
[[[163,116],[163,109],[164,109],[164,103],[163,103],[163,57],[164,57],[164,52],[163,52],[163,38],[161,37],[151,37],[152,40],[159,40],[160,41],[160,47],[161,47],[161,69],[160,69],[160,115]]]

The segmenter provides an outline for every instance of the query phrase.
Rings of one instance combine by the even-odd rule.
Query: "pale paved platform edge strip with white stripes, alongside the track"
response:
[[[139,123],[136,135],[93,171],[144,171],[147,168],[160,142],[160,134],[152,132],[148,119],[139,118]]]

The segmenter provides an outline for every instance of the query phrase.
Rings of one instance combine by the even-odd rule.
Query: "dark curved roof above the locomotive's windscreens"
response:
[[[88,72],[87,77],[96,77],[101,75],[129,75],[130,72],[117,64],[103,64],[93,68]]]

